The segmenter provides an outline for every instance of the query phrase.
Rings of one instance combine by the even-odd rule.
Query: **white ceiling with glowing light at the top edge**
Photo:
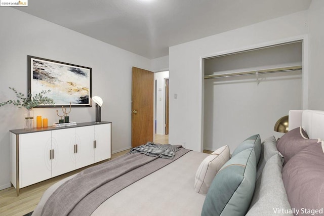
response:
[[[169,47],[298,11],[311,0],[30,0],[15,9],[148,59]]]

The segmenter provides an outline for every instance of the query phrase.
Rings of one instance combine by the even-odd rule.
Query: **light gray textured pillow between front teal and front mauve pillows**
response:
[[[288,211],[291,206],[282,182],[281,170],[281,154],[277,152],[267,159],[262,174],[256,182],[248,216],[293,215],[282,211],[282,209]]]

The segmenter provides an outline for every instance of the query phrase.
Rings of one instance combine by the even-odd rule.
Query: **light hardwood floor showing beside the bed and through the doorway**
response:
[[[155,143],[168,144],[169,136],[168,135],[155,135]],[[129,152],[130,149],[121,151],[111,155],[111,159],[116,158],[120,155],[124,155]],[[205,150],[204,150],[205,152]],[[209,153],[209,152],[206,152]],[[105,162],[105,161],[102,161]],[[98,163],[96,163],[98,164]],[[76,174],[77,172],[88,168],[84,167],[77,169],[67,174],[25,187],[20,189],[20,195],[16,196],[16,189],[14,187],[7,188],[0,191],[0,216],[9,216],[17,215],[22,216],[34,210],[39,200],[41,199],[44,191],[48,189],[54,183]]]

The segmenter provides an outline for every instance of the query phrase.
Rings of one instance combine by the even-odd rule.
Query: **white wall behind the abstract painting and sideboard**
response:
[[[86,35],[28,15],[0,8],[0,101],[15,98],[8,87],[27,92],[27,55],[92,68],[92,96],[103,99],[101,119],[112,122],[112,152],[131,147],[132,66],[150,69],[150,60]],[[36,108],[34,115],[57,121],[56,108]],[[95,120],[95,107],[72,108],[70,120]],[[24,110],[0,107],[0,189],[10,187],[10,129],[23,128]]]

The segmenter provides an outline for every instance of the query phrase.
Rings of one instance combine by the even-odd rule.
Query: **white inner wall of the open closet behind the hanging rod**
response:
[[[205,75],[258,71],[302,65],[302,42],[204,60]],[[204,149],[244,139],[283,134],[273,131],[278,118],[302,107],[302,70],[204,80]]]

